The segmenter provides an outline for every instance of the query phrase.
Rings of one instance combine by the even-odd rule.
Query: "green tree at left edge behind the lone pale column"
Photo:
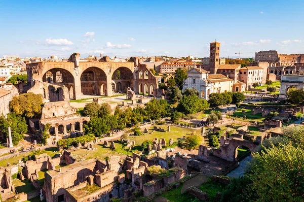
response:
[[[18,145],[19,141],[24,139],[24,133],[27,132],[26,121],[15,113],[7,114],[7,118],[2,115],[0,117],[0,130],[4,133],[5,138],[9,137],[9,126],[11,127],[12,142],[14,145]]]

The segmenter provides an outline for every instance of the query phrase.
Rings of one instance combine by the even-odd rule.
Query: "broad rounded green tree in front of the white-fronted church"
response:
[[[205,99],[200,99],[197,95],[183,96],[177,105],[177,110],[184,114],[195,114],[208,108],[208,102]]]

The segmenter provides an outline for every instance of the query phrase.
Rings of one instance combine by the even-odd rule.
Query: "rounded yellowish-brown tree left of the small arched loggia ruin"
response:
[[[32,118],[41,114],[42,95],[32,92],[13,97],[10,108],[16,115]]]

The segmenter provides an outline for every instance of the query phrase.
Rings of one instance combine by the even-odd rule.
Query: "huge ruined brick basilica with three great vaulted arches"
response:
[[[128,62],[112,62],[107,56],[97,61],[81,61],[79,53],[73,53],[66,62],[43,61],[26,64],[29,88],[37,82],[66,86],[70,99],[82,95],[111,96],[124,93],[130,87],[135,93],[153,95],[161,78],[155,76],[136,57]],[[37,88],[48,98],[48,88]]]

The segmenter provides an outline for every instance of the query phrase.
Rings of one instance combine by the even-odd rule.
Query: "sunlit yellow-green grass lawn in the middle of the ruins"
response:
[[[164,128],[165,130],[167,130],[168,125],[157,125],[157,127],[161,127]],[[142,136],[132,136],[129,137],[129,139],[131,141],[135,141],[135,145],[141,145],[145,140],[148,141],[152,141],[154,138],[164,138],[167,142],[167,144],[169,143],[169,140],[172,138],[173,141],[176,141],[179,138],[183,138],[184,136],[187,136],[187,134],[191,134],[192,132],[197,132],[200,130],[196,130],[196,129],[189,129],[189,128],[182,128],[182,127],[177,127],[174,125],[170,125],[170,132],[159,132],[159,131],[154,131],[153,133],[149,134],[149,133],[144,133],[142,129]],[[153,126],[151,126],[148,129],[148,132],[153,131]]]

